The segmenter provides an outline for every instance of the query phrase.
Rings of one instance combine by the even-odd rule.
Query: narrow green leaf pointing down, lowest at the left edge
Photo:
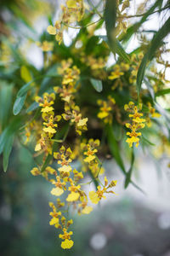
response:
[[[13,148],[14,134],[8,137],[5,147],[3,149],[3,171],[6,172],[8,168],[8,158]]]

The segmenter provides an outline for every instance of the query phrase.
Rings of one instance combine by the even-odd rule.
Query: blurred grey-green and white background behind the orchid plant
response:
[[[62,1],[56,2],[0,1],[1,37],[12,35],[20,41],[27,60],[37,69],[42,67],[42,51],[31,40],[25,41],[25,35],[29,34],[31,39],[38,40],[47,28],[50,16],[56,20]],[[53,14],[48,8],[50,4],[55,6]],[[31,31],[32,22],[34,31]],[[150,30],[153,26],[154,29],[160,26],[157,19],[146,23],[144,26]],[[104,29],[100,32],[105,34]],[[71,38],[76,34],[72,29],[65,32],[66,46],[71,44]],[[137,44],[133,38],[127,51]],[[113,58],[109,61],[108,65],[111,65]],[[124,177],[118,166],[113,160],[105,160],[108,177],[117,180],[118,195],[102,201],[90,215],[71,216],[74,220],[75,245],[65,251],[60,248],[57,230],[48,224],[48,201],[53,200],[51,186],[42,177],[32,177],[30,171],[35,163],[31,153],[21,148],[16,141],[6,173],[3,172],[2,156],[0,158],[0,255],[170,256],[168,159],[161,159],[155,164],[142,149],[139,149],[139,155],[133,179],[140,183],[145,194],[132,185],[124,190]]]

